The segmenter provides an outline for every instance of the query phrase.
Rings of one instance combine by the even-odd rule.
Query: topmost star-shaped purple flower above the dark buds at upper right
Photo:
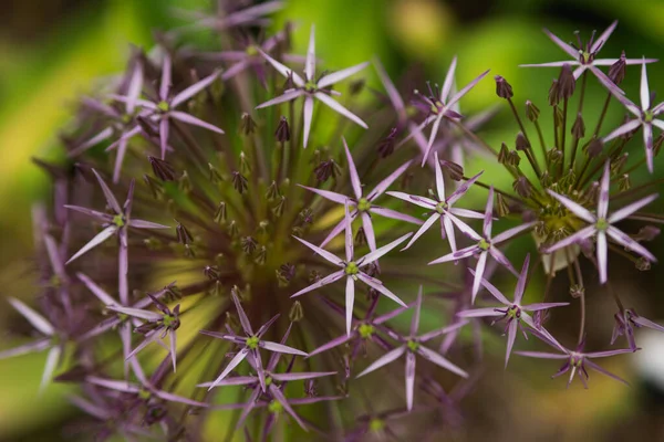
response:
[[[572,60],[563,61],[563,62],[551,62],[551,63],[539,63],[539,64],[521,64],[521,67],[562,67],[566,64],[572,66],[579,66],[574,70],[573,75],[574,78],[579,78],[582,73],[585,71],[592,72],[598,80],[605,86],[610,87],[613,85],[613,82],[596,66],[611,66],[619,59],[598,59],[598,53],[606,43],[606,40],[613,33],[613,30],[618,25],[618,20],[611,23],[609,28],[595,40],[595,31],[592,32],[590,40],[583,44],[581,42],[581,38],[579,33],[577,33],[577,44],[578,48],[572,46],[560,40],[552,32],[544,28],[544,33],[556,43],[560,49],[562,49]],[[656,62],[654,59],[625,59],[624,62],[626,64],[641,64],[641,63],[653,63]],[[615,87],[615,85],[613,85]]]

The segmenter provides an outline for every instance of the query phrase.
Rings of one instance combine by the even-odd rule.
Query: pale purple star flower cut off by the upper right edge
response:
[[[645,61],[645,59],[643,59]],[[664,110],[664,102],[654,105],[652,103],[654,95],[651,93],[647,85],[647,72],[645,70],[645,62],[641,66],[641,107],[636,106],[630,98],[622,94],[622,91],[618,86],[609,87],[609,91],[619,102],[623,104],[632,114],[636,116],[634,119],[630,119],[611,134],[604,137],[604,143],[612,140],[613,138],[620,137],[621,135],[636,130],[639,127],[643,128],[643,143],[645,146],[645,158],[647,161],[647,170],[653,172],[653,126],[664,130],[664,119],[657,119],[656,117]]]

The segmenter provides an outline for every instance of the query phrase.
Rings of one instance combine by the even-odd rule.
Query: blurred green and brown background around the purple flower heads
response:
[[[185,23],[174,7],[204,9],[206,0],[3,0],[0,6],[0,296],[29,296],[35,291],[25,277],[31,269],[30,207],[48,192],[45,176],[30,158],[60,155],[58,135],[66,127],[76,96],[93,80],[124,67],[129,43],[149,48],[156,30]],[[552,70],[519,69],[519,63],[564,60],[564,53],[541,32],[548,27],[563,40],[573,30],[588,36],[614,19],[618,30],[602,55],[663,57],[664,2],[661,0],[287,0],[276,25],[287,19],[301,27],[297,52],[303,53],[310,23],[317,24],[317,50],[331,66],[345,66],[378,55],[393,77],[408,65],[421,65],[427,77],[442,82],[452,56],[458,54],[458,84],[490,67],[513,85],[516,102],[531,98],[546,107]],[[656,88],[664,64],[649,66]],[[634,70],[625,91],[639,86]],[[372,83],[377,86],[375,80]],[[587,103],[599,107],[604,93],[593,85]],[[473,113],[497,103],[491,80],[485,80],[464,99]],[[591,106],[592,104],[587,104]],[[621,118],[614,106],[612,124]],[[504,125],[500,123],[505,122]],[[508,115],[494,125],[491,140],[512,143],[515,125]],[[587,126],[593,125],[587,123]],[[662,167],[662,164],[660,164]],[[636,181],[637,178],[633,177]],[[619,287],[620,287],[619,282]],[[629,283],[625,283],[629,284]],[[632,287],[633,297],[660,287],[656,275]],[[599,295],[598,295],[599,297]],[[590,299],[592,308],[592,298]],[[662,306],[644,302],[650,317],[664,317]],[[598,304],[599,305],[599,304]],[[600,308],[600,307],[598,307]],[[602,312],[610,318],[612,307]],[[658,311],[657,311],[658,308]],[[0,329],[10,312],[0,306]],[[11,315],[14,318],[14,315]],[[19,320],[19,319],[17,319]],[[603,320],[599,329],[610,333]],[[608,330],[606,330],[606,327]],[[609,335],[606,335],[609,336]],[[608,337],[606,337],[608,344]],[[0,333],[0,341],[7,339]],[[6,347],[3,344],[2,347]],[[632,380],[623,388],[609,379],[591,378],[591,389],[548,379],[556,366],[516,360],[504,372],[499,346],[497,364],[489,362],[478,393],[469,399],[471,438],[484,440],[624,440],[630,434],[664,440],[662,399],[647,379],[641,381],[627,358],[605,367]],[[37,385],[44,355],[0,361],[0,440],[53,441],[75,411],[63,406],[60,387],[43,397]],[[487,398],[490,404],[487,404]],[[490,407],[489,407],[490,406]],[[475,422],[480,419],[481,423]],[[478,421],[479,422],[479,421]],[[477,436],[475,438],[474,434]],[[653,439],[653,438],[651,438]]]

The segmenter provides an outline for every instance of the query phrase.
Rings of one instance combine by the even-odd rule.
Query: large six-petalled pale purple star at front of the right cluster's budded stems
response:
[[[601,284],[606,283],[606,272],[609,265],[609,244],[606,238],[611,238],[618,244],[622,245],[627,250],[636,252],[637,254],[651,262],[657,262],[657,259],[651,252],[649,252],[647,249],[645,249],[639,242],[634,241],[632,238],[630,238],[630,235],[625,234],[623,231],[619,230],[613,224],[624,220],[625,218],[629,218],[632,213],[643,208],[644,206],[650,204],[658,196],[656,193],[647,196],[609,214],[609,187],[611,185],[610,180],[611,169],[609,161],[606,161],[606,165],[604,166],[604,173],[602,175],[602,180],[600,183],[600,198],[598,200],[596,214],[592,213],[590,210],[585,209],[581,204],[572,201],[568,197],[563,197],[562,194],[558,194],[552,190],[549,190],[549,194],[556,198],[575,217],[588,222],[590,225],[584,227],[577,233],[571,234],[568,238],[560,240],[556,244],[544,248],[543,250],[543,253],[551,253],[559,249],[567,248],[568,245],[596,235],[596,257]]]

